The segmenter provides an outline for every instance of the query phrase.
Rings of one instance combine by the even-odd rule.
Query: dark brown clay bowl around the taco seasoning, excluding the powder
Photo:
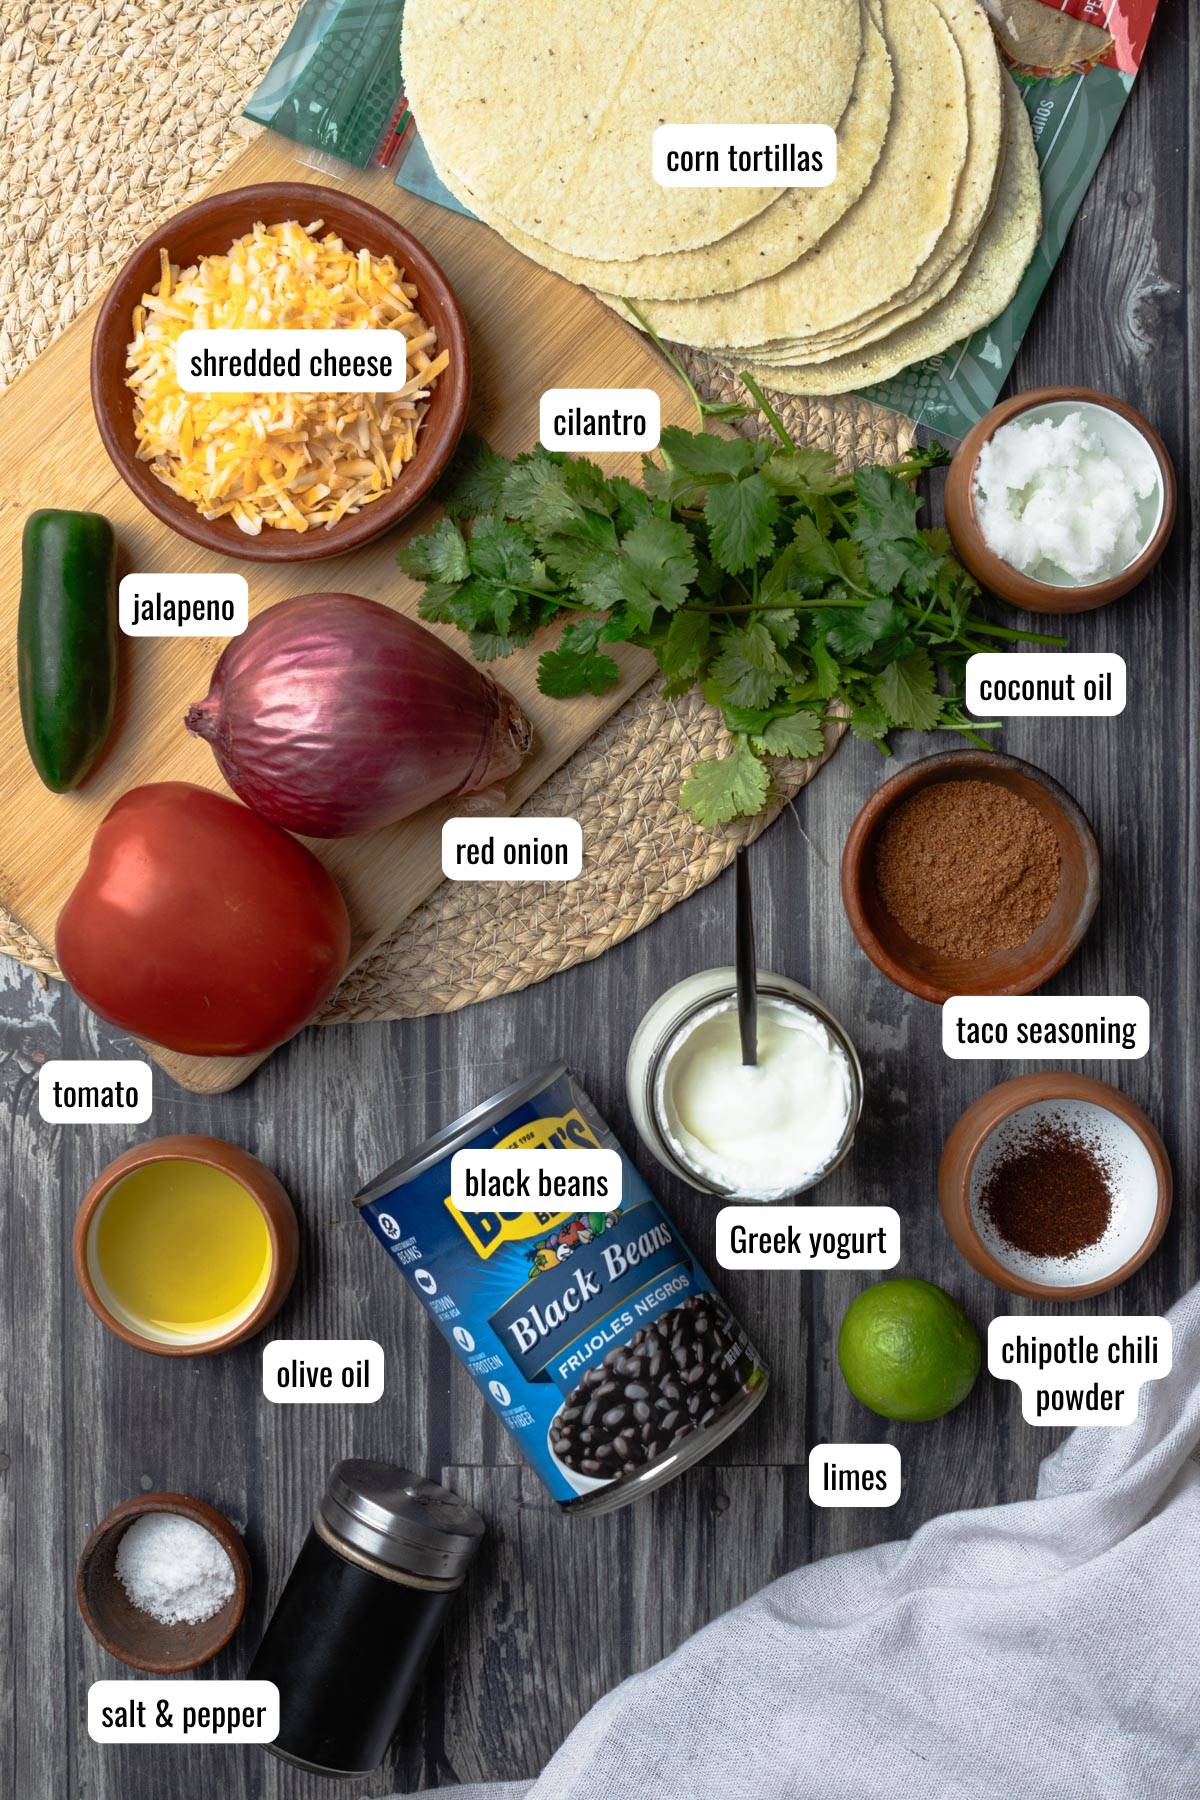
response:
[[[1058,839],[1058,898],[1034,934],[1013,950],[966,959],[916,943],[883,905],[874,880],[880,832],[896,806],[941,781],[995,781],[1038,808]],[[1076,801],[1051,776],[997,751],[941,751],[876,788],[842,851],[842,904],[851,931],[889,981],[941,1004],[955,994],[1033,994],[1074,956],[1099,900],[1099,851]]]

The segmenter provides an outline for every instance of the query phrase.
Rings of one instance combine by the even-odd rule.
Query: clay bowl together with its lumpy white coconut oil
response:
[[[946,529],[975,580],[1029,612],[1090,612],[1132,592],[1175,527],[1177,481],[1153,425],[1114,394],[1038,387],[963,439]]]

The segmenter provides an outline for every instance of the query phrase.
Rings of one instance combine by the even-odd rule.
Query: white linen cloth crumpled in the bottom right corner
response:
[[[1036,1499],[799,1568],[606,1694],[538,1780],[448,1791],[1196,1800],[1200,1287],[1171,1323],[1137,1424],[1074,1431]]]

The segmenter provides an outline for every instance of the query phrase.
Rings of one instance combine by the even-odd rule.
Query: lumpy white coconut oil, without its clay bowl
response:
[[[1162,473],[1142,434],[1088,401],[1020,412],[979,452],[975,517],[1013,569],[1051,587],[1121,574],[1162,517]]]

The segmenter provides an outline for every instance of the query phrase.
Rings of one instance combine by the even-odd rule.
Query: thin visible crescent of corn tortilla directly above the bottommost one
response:
[[[968,256],[982,230],[1000,185],[1004,148],[1004,99],[1000,59],[991,29],[975,0],[934,0],[963,56],[970,142],[954,196],[950,221],[932,254],[903,293],[882,306],[867,308],[837,331],[795,337],[770,346],[761,362],[813,362],[862,349],[919,319],[945,299],[966,268]]]

